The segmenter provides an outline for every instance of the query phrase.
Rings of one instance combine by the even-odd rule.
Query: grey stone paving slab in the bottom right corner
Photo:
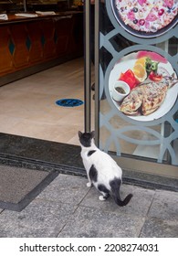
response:
[[[149,218],[141,230],[141,238],[178,238],[178,221],[176,219]]]

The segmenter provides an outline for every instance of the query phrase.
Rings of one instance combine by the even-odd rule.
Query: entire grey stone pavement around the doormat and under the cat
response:
[[[178,193],[121,186],[132,193],[128,206],[118,207],[87,179],[59,174],[21,212],[0,208],[0,237],[21,238],[178,238]]]

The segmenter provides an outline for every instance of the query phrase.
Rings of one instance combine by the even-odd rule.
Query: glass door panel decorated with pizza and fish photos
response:
[[[125,169],[178,178],[177,1],[103,2],[95,1],[99,148]]]

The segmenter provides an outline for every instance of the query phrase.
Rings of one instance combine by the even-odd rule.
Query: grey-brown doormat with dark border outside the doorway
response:
[[[54,172],[0,165],[0,208],[21,211],[57,176]]]

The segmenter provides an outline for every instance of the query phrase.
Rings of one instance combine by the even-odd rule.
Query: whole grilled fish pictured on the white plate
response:
[[[121,102],[120,112],[145,116],[155,112],[162,105],[168,89],[177,82],[173,74],[171,77],[163,77],[160,82],[148,81],[135,87]]]

